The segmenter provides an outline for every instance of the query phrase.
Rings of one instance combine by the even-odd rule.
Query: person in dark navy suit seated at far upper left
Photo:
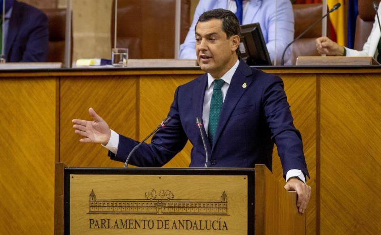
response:
[[[33,6],[7,0],[4,39],[6,62],[46,62],[48,18]]]

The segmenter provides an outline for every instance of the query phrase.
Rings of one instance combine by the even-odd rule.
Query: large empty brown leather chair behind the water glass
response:
[[[174,58],[175,2],[118,0],[117,47],[128,48],[128,57],[132,59]],[[111,47],[114,47],[114,6],[115,0]],[[189,29],[190,7],[190,0],[181,0],[181,42]]]

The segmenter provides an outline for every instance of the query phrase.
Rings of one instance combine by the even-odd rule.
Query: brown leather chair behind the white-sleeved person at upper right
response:
[[[375,22],[376,11],[373,9],[373,0],[358,0],[357,6],[359,15],[356,19],[354,49],[362,51]]]

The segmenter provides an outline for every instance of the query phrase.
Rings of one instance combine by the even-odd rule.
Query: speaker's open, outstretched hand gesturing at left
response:
[[[93,108],[89,109],[89,114],[93,121],[73,119],[73,128],[75,133],[85,136],[86,138],[80,139],[83,143],[101,143],[106,145],[111,136],[111,130],[106,121],[103,120]]]

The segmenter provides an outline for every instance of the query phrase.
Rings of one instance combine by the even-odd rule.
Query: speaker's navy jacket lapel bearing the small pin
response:
[[[252,72],[250,67],[246,64],[245,61],[241,59],[239,66],[237,70],[235,70],[235,73],[232,77],[229,89],[226,93],[211,152],[213,152],[214,146],[216,145],[216,142],[218,141],[218,138],[221,135],[222,130],[224,129],[227,121],[229,120],[230,114],[234,110],[234,107],[237,105],[237,102],[239,101],[243,93],[247,90],[247,87],[250,86],[251,78],[248,78],[248,76],[251,74]],[[243,88],[244,83],[246,83],[245,88]]]

